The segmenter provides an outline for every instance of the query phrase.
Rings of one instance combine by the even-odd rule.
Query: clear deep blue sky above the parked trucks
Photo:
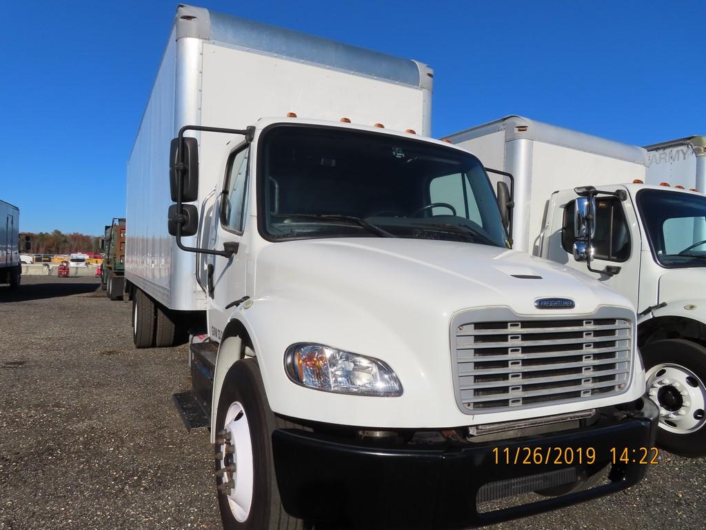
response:
[[[706,134],[702,21],[688,4],[195,4],[430,64],[434,136],[505,114],[637,145]],[[20,230],[99,234],[124,214],[126,161],[176,7],[0,1],[0,199],[20,206]]]

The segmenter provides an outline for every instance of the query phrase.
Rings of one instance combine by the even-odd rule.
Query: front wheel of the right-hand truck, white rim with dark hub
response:
[[[647,394],[659,406],[657,444],[682,457],[706,456],[706,348],[682,338],[642,347]]]

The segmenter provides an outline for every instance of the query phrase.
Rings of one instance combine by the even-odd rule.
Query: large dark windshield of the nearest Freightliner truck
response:
[[[477,158],[397,136],[275,126],[261,151],[269,240],[408,237],[507,245]]]

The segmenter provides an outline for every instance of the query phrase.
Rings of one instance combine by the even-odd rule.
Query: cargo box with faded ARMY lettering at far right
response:
[[[662,182],[706,191],[706,136],[688,136],[654,143],[647,150],[645,184]]]

